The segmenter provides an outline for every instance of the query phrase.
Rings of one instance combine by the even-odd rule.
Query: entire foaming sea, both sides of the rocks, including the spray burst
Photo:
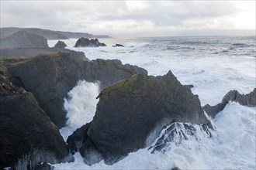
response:
[[[99,39],[107,46],[97,48],[75,48],[77,40],[62,41],[88,59],[119,59],[153,76],[171,70],[182,84],[193,85],[192,93],[199,95],[202,106],[219,104],[230,90],[250,93],[256,87],[255,36],[109,38]],[[48,45],[56,42],[49,40]],[[124,47],[113,47],[116,44]],[[60,130],[64,140],[92,121],[98,94],[99,82],[79,80],[64,98],[68,118],[67,127]],[[114,165],[102,161],[91,166],[76,153],[74,162],[54,165],[54,169],[256,169],[256,107],[230,102],[209,119],[214,127],[211,137],[194,124],[194,135],[171,141],[164,151],[152,154],[149,148],[141,148]]]

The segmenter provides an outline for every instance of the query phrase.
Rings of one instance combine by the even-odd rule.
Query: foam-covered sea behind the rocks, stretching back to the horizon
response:
[[[88,59],[120,59],[123,63],[141,66],[154,76],[171,70],[182,84],[194,85],[192,92],[199,95],[202,105],[220,103],[229,90],[250,93],[256,86],[254,38],[99,39],[107,45],[99,48],[74,48],[76,40],[65,39],[67,49],[83,51]],[[54,46],[56,42],[48,43]],[[229,49],[233,42],[248,43],[252,47],[221,52]],[[116,43],[125,47],[112,47]],[[181,49],[167,50],[170,46]]]

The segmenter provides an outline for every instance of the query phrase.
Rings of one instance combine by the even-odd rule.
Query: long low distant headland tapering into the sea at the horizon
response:
[[[6,28],[0,29],[0,39],[4,39],[19,31],[26,31],[39,36],[43,36],[45,39],[79,39],[81,37],[110,38],[110,36],[107,36],[107,35],[92,35],[85,32],[62,32],[62,31],[53,31],[49,29],[37,29],[37,28],[21,29],[16,27],[6,27]]]

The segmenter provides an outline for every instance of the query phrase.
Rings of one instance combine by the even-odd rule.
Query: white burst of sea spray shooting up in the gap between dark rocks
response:
[[[77,128],[92,121],[95,115],[99,95],[99,83],[88,83],[79,80],[76,87],[64,99],[64,108],[67,110],[67,126],[61,128],[61,135],[64,141]]]

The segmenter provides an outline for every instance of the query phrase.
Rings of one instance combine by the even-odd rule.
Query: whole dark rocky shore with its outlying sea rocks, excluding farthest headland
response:
[[[87,165],[102,160],[112,165],[156,140],[152,153],[161,151],[177,128],[191,134],[191,124],[213,130],[205,112],[215,117],[230,101],[256,106],[256,88],[248,94],[232,90],[220,104],[202,107],[192,86],[182,85],[171,70],[147,76],[147,70],[118,59],[89,60],[61,41],[50,48],[43,36],[30,32],[15,32],[5,40],[0,53],[0,168],[49,168],[47,163],[74,161],[75,152]],[[98,39],[77,43],[103,46]],[[67,121],[64,98],[78,80],[99,83],[99,103],[93,120],[64,141],[59,132]]]

